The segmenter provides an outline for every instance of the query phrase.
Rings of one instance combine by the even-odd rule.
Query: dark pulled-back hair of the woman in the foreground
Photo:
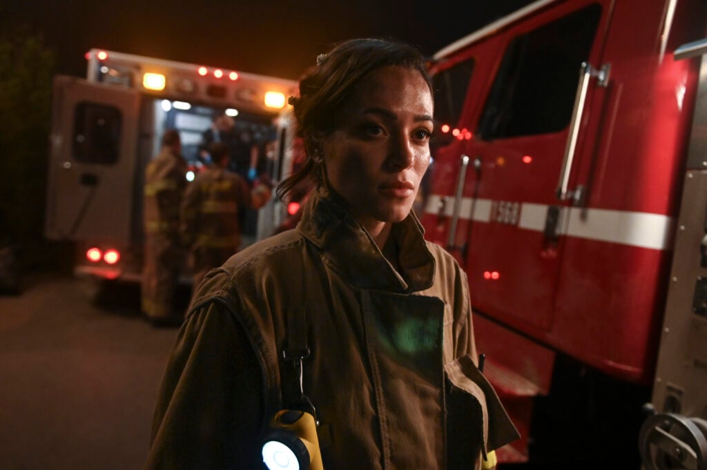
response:
[[[337,110],[356,85],[372,71],[386,66],[402,66],[419,71],[432,91],[432,80],[426,60],[418,49],[397,40],[354,39],[340,42],[317,57],[312,67],[300,79],[298,97],[290,97],[297,121],[297,136],[303,139],[305,162],[277,188],[283,199],[293,187],[308,178],[315,185],[324,183],[324,167],[312,158],[314,146],[333,128]]]

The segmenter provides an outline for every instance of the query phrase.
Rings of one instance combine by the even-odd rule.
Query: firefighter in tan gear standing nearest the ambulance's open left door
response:
[[[173,310],[183,259],[179,207],[187,184],[187,162],[181,152],[179,132],[168,129],[162,136],[162,150],[145,171],[142,311],[156,326],[182,320],[182,314]]]

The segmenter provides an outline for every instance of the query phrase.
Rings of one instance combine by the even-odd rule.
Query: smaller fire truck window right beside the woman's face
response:
[[[435,119],[439,124],[455,127],[459,122],[472,71],[474,59],[468,59],[433,76]]]

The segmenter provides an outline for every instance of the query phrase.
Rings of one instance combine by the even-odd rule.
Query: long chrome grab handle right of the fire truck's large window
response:
[[[584,102],[587,98],[587,88],[589,79],[597,77],[599,86],[607,86],[609,82],[609,64],[602,65],[601,69],[595,69],[587,62],[582,62],[579,69],[579,83],[577,93],[575,95],[575,104],[572,110],[572,119],[570,120],[570,131],[567,136],[567,144],[565,146],[565,157],[562,161],[560,170],[560,180],[557,183],[556,196],[560,201],[573,199],[575,205],[578,205],[582,199],[582,189],[578,188],[575,191],[569,191],[568,185],[572,172],[572,163],[575,155],[575,147],[577,145],[577,136],[579,135],[579,127],[582,122],[582,114],[584,112]]]

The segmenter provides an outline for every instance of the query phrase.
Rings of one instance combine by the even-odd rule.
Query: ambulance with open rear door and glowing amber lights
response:
[[[78,275],[138,281],[144,169],[165,129],[180,132],[192,180],[212,117],[271,143],[296,81],[103,49],[86,59],[86,78],[54,78],[45,235],[76,242]],[[253,226],[246,242],[262,236]]]

